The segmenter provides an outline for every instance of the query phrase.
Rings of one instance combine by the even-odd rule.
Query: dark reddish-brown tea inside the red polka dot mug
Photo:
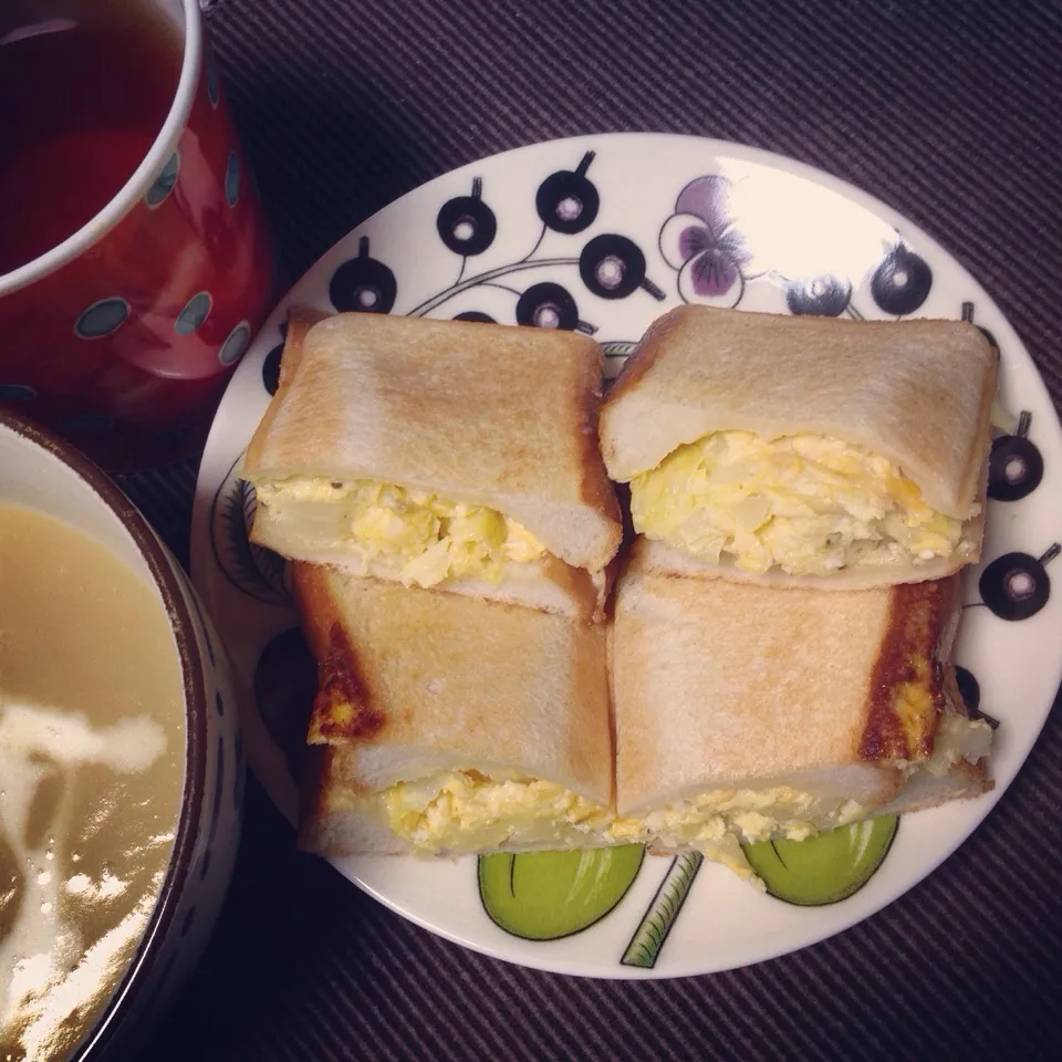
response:
[[[0,275],[73,236],[143,162],[181,43],[152,0],[0,4]]]

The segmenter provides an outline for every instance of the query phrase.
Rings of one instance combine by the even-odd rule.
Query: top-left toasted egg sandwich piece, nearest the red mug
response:
[[[251,540],[300,561],[601,615],[622,537],[584,335],[295,314],[240,475]]]

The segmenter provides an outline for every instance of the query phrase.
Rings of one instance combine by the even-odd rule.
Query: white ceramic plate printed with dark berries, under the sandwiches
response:
[[[1051,563],[1062,540],[1062,431],[1021,341],[977,282],[887,207],[787,159],[691,137],[559,140],[439,177],[341,240],[267,322],[218,414],[196,496],[194,576],[242,683],[248,760],[289,819],[295,789],[284,747],[301,740],[312,668],[299,636],[285,634],[295,616],[283,565],[247,543],[253,496],[233,476],[275,387],[288,308],[577,327],[604,345],[614,375],[649,322],[683,300],[854,317],[965,315],[995,337],[1016,424],[995,450],[986,561],[967,573],[958,662],[976,676],[977,686],[962,676],[967,690],[979,687],[981,707],[1002,723],[996,790],[907,816],[877,872],[840,903],[792,906],[720,866],[646,857],[606,916],[550,940],[516,936],[488,916],[475,858],[334,861],[405,917],[524,966],[597,977],[704,974],[860,922],[925,877],[988,814],[1062,675],[1062,593],[1049,593],[1054,570],[1062,575],[1062,560]],[[632,959],[628,945],[650,908],[655,937]]]

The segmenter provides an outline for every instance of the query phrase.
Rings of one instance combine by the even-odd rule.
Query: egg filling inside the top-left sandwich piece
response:
[[[493,509],[393,483],[291,479],[260,485],[258,497],[284,506],[289,517],[301,513],[366,570],[376,560],[396,565],[407,586],[461,575],[499,583],[507,563],[537,561],[546,552],[527,528]]]

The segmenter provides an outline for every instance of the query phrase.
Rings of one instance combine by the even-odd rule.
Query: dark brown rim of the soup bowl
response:
[[[169,935],[185,883],[192,870],[207,778],[208,706],[204,681],[205,662],[195,635],[190,633],[196,629],[198,617],[188,607],[185,594],[181,592],[178,562],[176,560],[170,562],[160,539],[122,489],[81,450],[30,418],[0,409],[0,428],[9,429],[62,461],[93,490],[133,538],[134,544],[148,566],[152,582],[163,598],[167,622],[174,634],[181,674],[185,705],[185,778],[174,845],[152,915],[140,934],[133,957],[126,964],[122,977],[95,1021],[69,1058],[69,1062],[82,1062],[103,1051],[117,1031],[122,1012],[135,998],[136,981],[143,979],[158,946]],[[184,575],[184,573],[180,574]],[[184,575],[184,583],[189,594],[195,593],[187,575]]]

